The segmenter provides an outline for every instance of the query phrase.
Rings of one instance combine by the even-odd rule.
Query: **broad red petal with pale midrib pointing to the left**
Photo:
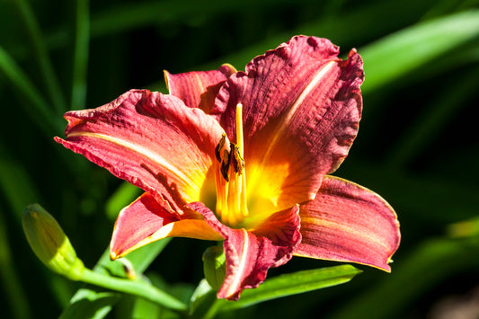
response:
[[[66,139],[55,140],[111,173],[167,200],[214,205],[210,170],[223,129],[172,96],[132,90],[94,110],[69,111]],[[215,159],[216,160],[216,159]]]

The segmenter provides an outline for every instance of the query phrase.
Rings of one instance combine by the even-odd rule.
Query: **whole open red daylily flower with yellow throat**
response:
[[[169,94],[131,90],[69,111],[56,141],[145,193],[120,211],[115,259],[182,236],[224,241],[217,297],[237,299],[293,255],[390,271],[393,208],[333,173],[357,135],[362,61],[297,36],[233,66],[171,75]]]

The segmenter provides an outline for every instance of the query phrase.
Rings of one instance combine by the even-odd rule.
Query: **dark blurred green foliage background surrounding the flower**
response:
[[[26,205],[47,208],[93,268],[116,212],[137,195],[53,141],[63,134],[64,111],[100,106],[130,88],[164,90],[163,69],[226,62],[243,69],[295,34],[328,38],[344,55],[357,48],[364,58],[363,120],[338,175],[391,203],[402,245],[391,274],[360,267],[347,284],[219,317],[424,317],[444,309],[448,297],[467,301],[478,289],[477,0],[3,0],[0,25],[5,317],[58,317],[82,287],[31,253],[21,226]],[[179,298],[190,296],[207,245],[174,239],[146,276]],[[270,277],[336,264],[294,258]],[[133,297],[92,293],[107,305],[97,317],[172,315]],[[121,302],[111,310],[112,299]]]

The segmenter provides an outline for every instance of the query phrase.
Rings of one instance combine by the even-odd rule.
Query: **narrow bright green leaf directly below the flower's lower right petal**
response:
[[[302,270],[267,279],[258,288],[246,289],[238,301],[224,301],[219,311],[253,306],[263,301],[287,297],[321,288],[332,287],[350,281],[361,270],[351,265],[341,265],[316,270]]]

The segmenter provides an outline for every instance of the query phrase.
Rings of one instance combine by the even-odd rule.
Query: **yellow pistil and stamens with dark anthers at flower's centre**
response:
[[[217,207],[220,221],[240,228],[248,216],[246,206],[246,174],[244,172],[243,105],[236,105],[236,143],[223,134],[215,148]]]

